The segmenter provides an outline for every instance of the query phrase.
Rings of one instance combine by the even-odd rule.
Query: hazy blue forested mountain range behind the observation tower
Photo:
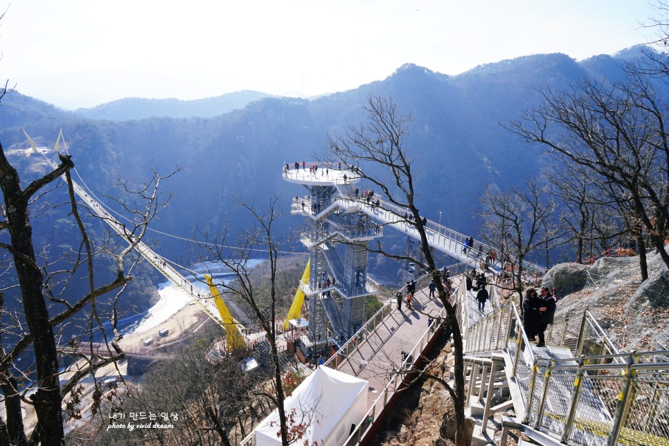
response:
[[[288,208],[290,197],[304,191],[283,181],[281,167],[314,159],[328,135],[361,122],[369,95],[386,96],[413,115],[407,143],[420,211],[476,235],[472,211],[489,184],[519,184],[543,175],[551,162],[500,124],[538,105],[541,89],[565,89],[587,76],[616,80],[623,75],[621,64],[636,57],[643,57],[639,47],[580,62],[560,53],[530,55],[460,75],[404,64],[384,80],[312,100],[241,91],[197,101],[126,98],[63,111],[11,91],[0,107],[0,141],[6,150],[25,147],[26,129],[36,141],[53,145],[62,128],[78,174],[101,196],[114,194],[115,178],[141,184],[150,168],[168,172],[180,166],[165,185],[175,193],[172,205],[154,226],[188,238],[204,227],[244,228],[247,216],[233,197],[263,206],[269,195],[280,194]],[[28,161],[17,162],[28,177],[39,173]],[[300,224],[288,217],[278,229],[288,233]],[[404,240],[391,244],[400,247]]]

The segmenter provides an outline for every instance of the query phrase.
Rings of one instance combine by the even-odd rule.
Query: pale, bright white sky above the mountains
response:
[[[654,1],[657,3],[657,0]],[[310,97],[402,64],[456,75],[654,38],[647,0],[0,0],[0,79],[63,109],[240,90]]]

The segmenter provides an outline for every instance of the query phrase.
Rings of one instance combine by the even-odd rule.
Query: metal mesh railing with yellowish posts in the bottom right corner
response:
[[[669,445],[669,364],[640,364],[657,353],[538,364],[542,382],[526,422],[571,445]]]

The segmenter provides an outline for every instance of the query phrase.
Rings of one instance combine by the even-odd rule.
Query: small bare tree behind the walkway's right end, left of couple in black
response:
[[[526,277],[532,272],[526,270],[528,255],[542,249],[549,251],[562,243],[564,231],[554,221],[555,200],[546,186],[526,179],[523,188],[499,191],[489,187],[480,201],[483,205],[479,212],[483,217],[481,235],[501,250],[501,259],[513,276],[508,289],[517,292],[521,302],[524,283],[531,280]]]

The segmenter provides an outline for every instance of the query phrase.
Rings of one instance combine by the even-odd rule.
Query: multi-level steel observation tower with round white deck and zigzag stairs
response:
[[[365,296],[375,293],[367,283],[367,245],[383,236],[383,227],[360,210],[358,175],[330,163],[293,163],[283,179],[301,184],[307,195],[293,197],[290,212],[305,217],[301,242],[309,250],[310,274],[300,287],[309,297],[309,338],[320,344],[330,338],[342,344],[365,321]]]

